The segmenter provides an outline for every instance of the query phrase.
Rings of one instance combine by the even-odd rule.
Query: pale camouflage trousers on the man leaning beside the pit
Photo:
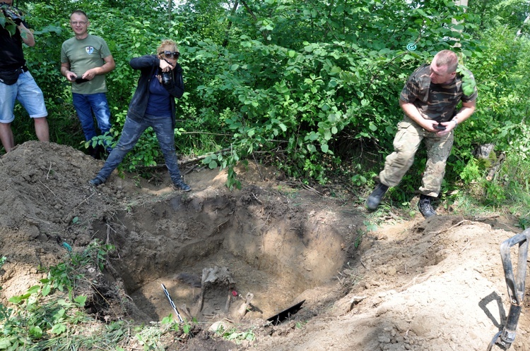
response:
[[[439,136],[421,128],[407,116],[398,123],[398,132],[394,137],[394,152],[387,156],[384,161],[384,169],[379,173],[381,183],[389,187],[395,187],[399,184],[405,173],[411,168],[414,155],[422,140],[427,148],[427,164],[423,173],[420,193],[432,197],[438,196],[445,175],[445,164],[453,146],[454,133]]]

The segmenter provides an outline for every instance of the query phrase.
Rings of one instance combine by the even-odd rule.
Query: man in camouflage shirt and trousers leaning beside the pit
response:
[[[425,218],[435,216],[431,200],[438,196],[445,174],[445,164],[454,140],[454,129],[469,118],[476,107],[477,91],[464,93],[464,75],[457,73],[458,56],[451,50],[438,52],[430,65],[420,66],[408,78],[401,91],[399,106],[404,111],[394,137],[394,152],[387,156],[379,173],[379,184],[366,200],[374,211],[389,187],[395,187],[411,168],[422,141],[427,147],[427,164],[420,187],[418,209]],[[470,82],[473,74],[465,71]],[[456,111],[457,104],[462,106]]]

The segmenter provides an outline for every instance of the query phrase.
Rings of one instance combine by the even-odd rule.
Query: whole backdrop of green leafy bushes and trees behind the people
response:
[[[473,72],[479,98],[475,115],[456,131],[442,189],[447,193],[462,176],[464,185],[481,177],[472,154],[478,144],[493,142],[504,152],[529,147],[525,4],[487,0],[464,11],[448,0],[270,0],[237,8],[190,0],[170,15],[166,1],[23,1],[21,7],[35,29],[37,46],[25,54],[45,92],[52,141],[88,147],[111,140],[81,142],[69,83],[59,73],[60,45],[72,36],[69,13],[81,8],[90,32],[106,39],[117,63],[107,74],[112,142],[138,77],[129,60],[154,53],[161,39],[176,39],[187,90],[177,104],[177,149],[211,154],[205,164],[227,168],[229,187],[240,186],[235,164],[257,155],[306,183],[326,183],[341,172],[355,186],[369,183],[392,151],[402,118],[397,98],[406,78],[436,51],[453,48]],[[35,137],[24,113],[18,106],[18,143]],[[344,167],[351,159],[356,166]],[[401,190],[389,194],[399,203],[409,202],[406,194],[418,187],[423,159],[417,157]],[[161,161],[148,130],[122,169],[141,171]],[[489,193],[502,197],[494,189]]]

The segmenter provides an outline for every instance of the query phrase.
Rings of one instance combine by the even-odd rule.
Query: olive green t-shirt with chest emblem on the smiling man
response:
[[[96,35],[88,35],[85,39],[72,37],[61,47],[61,63],[70,63],[73,73],[81,76],[90,68],[101,67],[105,64],[103,58],[110,56],[110,50],[105,40]],[[72,92],[78,94],[97,94],[107,92],[105,75],[96,75],[92,80],[84,83],[72,83]]]

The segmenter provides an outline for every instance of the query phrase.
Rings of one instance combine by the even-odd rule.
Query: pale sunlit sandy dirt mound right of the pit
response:
[[[499,246],[513,235],[455,216],[389,223],[341,272],[348,295],[261,350],[486,350],[506,323]],[[511,350],[529,350],[529,322],[523,312]]]

